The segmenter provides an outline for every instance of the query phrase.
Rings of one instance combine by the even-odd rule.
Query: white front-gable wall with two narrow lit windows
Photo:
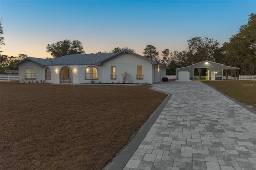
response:
[[[142,65],[142,75],[143,79],[136,79],[137,66]],[[111,66],[116,66],[116,79],[110,79]],[[130,74],[126,83],[152,83],[152,64],[138,56],[125,53],[122,55],[115,56],[107,61],[103,62],[102,65],[102,83],[122,83],[122,75],[124,72]]]

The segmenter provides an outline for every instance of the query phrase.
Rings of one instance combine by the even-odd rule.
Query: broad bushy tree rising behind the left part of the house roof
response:
[[[48,44],[46,52],[51,53],[52,57],[61,57],[68,54],[84,54],[84,47],[78,40],[63,40],[56,43]]]

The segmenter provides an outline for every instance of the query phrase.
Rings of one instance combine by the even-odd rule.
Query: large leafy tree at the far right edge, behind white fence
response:
[[[249,15],[248,23],[221,50],[220,63],[241,68],[240,74],[256,74],[256,14]]]

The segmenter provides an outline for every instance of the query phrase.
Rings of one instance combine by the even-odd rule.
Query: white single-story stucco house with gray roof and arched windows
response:
[[[153,84],[166,77],[161,63],[126,49],[118,53],[73,54],[54,59],[26,57],[12,67],[19,68],[20,83],[125,83]]]

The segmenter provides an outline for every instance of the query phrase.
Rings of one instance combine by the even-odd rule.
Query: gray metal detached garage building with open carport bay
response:
[[[206,60],[187,67],[177,68],[176,80],[194,80],[194,70],[202,68],[207,70],[207,80],[223,80],[223,71],[226,71],[226,74],[229,71],[231,76],[237,77],[240,69]]]

